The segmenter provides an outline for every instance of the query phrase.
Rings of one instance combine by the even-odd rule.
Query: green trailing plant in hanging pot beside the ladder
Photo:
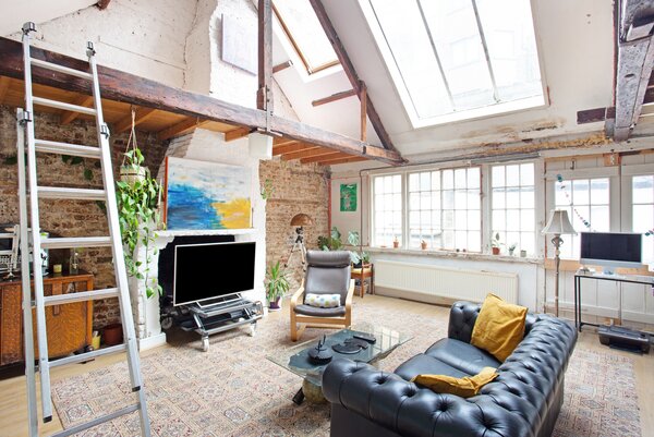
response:
[[[142,166],[143,154],[138,148],[133,148],[125,154],[128,166]],[[143,180],[128,183],[118,181],[116,183],[118,216],[122,243],[125,247],[125,266],[128,274],[145,283],[145,293],[148,298],[155,292],[161,294],[161,286],[156,279],[149,278],[149,264],[157,250],[150,252],[150,246],[157,238],[156,230],[161,226],[161,217],[158,211],[159,192],[161,186],[149,174]],[[136,248],[138,244],[145,248],[145,262],[137,260]]]

